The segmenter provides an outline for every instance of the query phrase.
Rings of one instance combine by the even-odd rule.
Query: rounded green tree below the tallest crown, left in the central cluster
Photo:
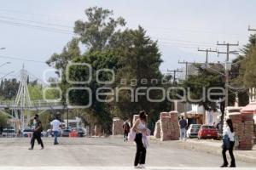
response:
[[[105,133],[110,133],[112,117],[106,103],[100,102],[96,99],[96,90],[102,88],[104,84],[96,82],[96,71],[100,69],[110,69],[115,71],[117,65],[117,55],[111,50],[105,51],[90,51],[84,54],[82,57],[74,59],[74,62],[87,63],[92,67],[92,80],[79,87],[88,87],[92,92],[91,106],[86,109],[87,122],[94,122],[95,124],[100,124]],[[75,81],[86,80],[88,75],[83,68],[78,66],[72,67],[70,71],[70,77]],[[101,81],[109,81],[111,78],[109,75],[99,75]],[[84,91],[73,91],[70,94],[70,101],[73,105],[87,105],[89,103],[88,93]],[[102,99],[106,99],[108,96],[103,96]]]

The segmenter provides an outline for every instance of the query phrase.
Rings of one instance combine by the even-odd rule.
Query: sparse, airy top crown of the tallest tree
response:
[[[89,50],[102,50],[109,46],[116,28],[125,26],[122,17],[113,18],[113,11],[98,7],[85,9],[87,21],[77,20],[74,32]]]

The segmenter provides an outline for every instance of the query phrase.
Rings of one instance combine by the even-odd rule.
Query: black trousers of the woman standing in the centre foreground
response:
[[[136,167],[138,164],[145,164],[147,150],[143,145],[142,133],[137,133],[134,141],[136,142],[137,145],[137,152],[134,161],[134,166]]]

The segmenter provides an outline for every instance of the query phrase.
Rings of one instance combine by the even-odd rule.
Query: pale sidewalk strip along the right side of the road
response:
[[[207,153],[211,153],[214,155],[221,156],[221,140],[213,140],[213,139],[187,139],[186,141],[175,141],[177,145],[189,150],[198,150],[204,151]],[[254,144],[253,150],[234,150],[234,155],[236,160],[239,161],[247,161],[247,162],[256,162],[256,145]],[[229,153],[227,151],[227,156]]]

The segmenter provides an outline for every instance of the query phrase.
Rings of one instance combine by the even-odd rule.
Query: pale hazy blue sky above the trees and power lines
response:
[[[22,65],[39,80],[49,69],[45,61],[72,39],[73,23],[86,20],[84,9],[94,6],[113,10],[127,27],[138,25],[158,40],[160,71],[175,70],[178,60],[204,62],[206,54],[197,49],[224,47],[219,42],[247,43],[248,26],[256,28],[253,0],[0,0],[0,78],[10,71],[17,77]],[[252,32],[251,32],[252,33]],[[234,59],[236,56],[231,56]],[[224,62],[225,56],[210,54],[210,62]],[[51,71],[48,71],[51,75]]]

